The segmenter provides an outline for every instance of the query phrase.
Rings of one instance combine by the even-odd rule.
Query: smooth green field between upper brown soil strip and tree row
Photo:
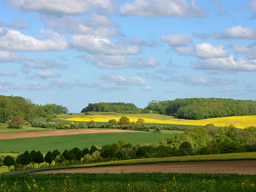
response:
[[[164,133],[93,133],[93,134],[80,134],[70,136],[42,136],[33,138],[20,138],[20,139],[1,139],[0,151],[19,151],[25,152],[28,150],[40,150],[42,153],[47,153],[49,150],[53,151],[58,149],[63,152],[65,149],[79,149],[91,148],[95,143],[98,146],[112,144],[118,142],[119,139],[125,139],[131,145],[138,143],[151,143],[157,142],[159,137],[163,136],[166,141],[167,137],[174,136]]]

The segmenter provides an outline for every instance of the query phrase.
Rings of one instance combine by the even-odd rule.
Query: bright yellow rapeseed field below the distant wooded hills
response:
[[[212,123],[215,126],[233,125],[238,128],[245,128],[248,126],[256,126],[256,116],[235,116],[235,117],[221,117],[206,120],[183,120],[173,118],[167,115],[160,114],[118,114],[118,115],[88,115],[88,116],[73,116],[70,118],[62,118],[69,121],[84,121],[89,122],[94,120],[95,122],[109,122],[109,120],[119,120],[121,117],[128,117],[131,122],[136,122],[138,118],[143,118],[145,123],[157,123],[157,124],[178,124],[178,125],[193,125],[193,126],[205,126]]]

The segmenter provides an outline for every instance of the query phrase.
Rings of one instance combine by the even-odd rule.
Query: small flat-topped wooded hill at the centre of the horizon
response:
[[[81,113],[100,111],[100,112],[117,112],[123,114],[137,114],[139,113],[139,108],[134,104],[125,103],[98,103],[98,104],[88,104],[87,107],[83,108]]]

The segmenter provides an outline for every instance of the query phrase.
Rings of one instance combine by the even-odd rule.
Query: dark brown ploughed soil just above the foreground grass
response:
[[[70,168],[63,170],[41,171],[37,174],[53,173],[211,173],[211,174],[256,174],[256,161],[222,161],[222,162],[177,162],[147,165],[121,165],[99,168]]]

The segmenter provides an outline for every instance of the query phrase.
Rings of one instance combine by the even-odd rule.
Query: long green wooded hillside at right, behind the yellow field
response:
[[[203,120],[215,117],[256,115],[256,101],[223,98],[185,98],[151,101],[142,113],[174,115],[182,119]]]

